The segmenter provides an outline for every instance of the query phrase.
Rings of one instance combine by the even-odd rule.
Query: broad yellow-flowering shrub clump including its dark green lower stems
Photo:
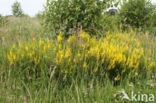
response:
[[[107,33],[106,37],[98,39],[81,31],[78,36],[72,35],[68,39],[60,33],[55,40],[33,38],[27,43],[13,45],[6,59],[10,66],[26,69],[25,75],[41,76],[55,67],[55,74],[61,76],[109,75],[118,81],[123,76],[130,74],[134,78],[153,68],[155,62],[150,56],[144,55],[135,34]]]

